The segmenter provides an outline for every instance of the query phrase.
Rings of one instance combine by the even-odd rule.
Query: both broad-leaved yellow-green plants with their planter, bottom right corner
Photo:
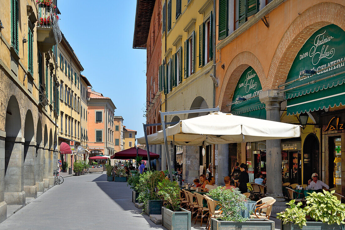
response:
[[[300,229],[344,229],[345,227],[345,204],[342,204],[335,191],[313,192],[305,199],[307,206],[300,208],[301,202],[295,204],[295,200],[289,203],[290,208],[277,214],[282,220],[282,230]],[[306,216],[311,220],[307,221]]]

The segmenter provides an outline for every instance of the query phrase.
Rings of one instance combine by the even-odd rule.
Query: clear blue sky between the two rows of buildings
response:
[[[58,0],[61,32],[92,89],[110,97],[115,116],[144,136],[146,49],[133,49],[136,0]]]

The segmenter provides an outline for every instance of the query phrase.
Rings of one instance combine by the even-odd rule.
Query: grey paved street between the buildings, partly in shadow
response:
[[[166,229],[134,207],[127,183],[107,182],[106,176],[68,177],[0,223],[0,229]],[[193,224],[194,230],[206,226]]]

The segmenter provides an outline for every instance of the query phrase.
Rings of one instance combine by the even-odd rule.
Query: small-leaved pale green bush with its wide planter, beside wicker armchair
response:
[[[274,230],[274,221],[267,219],[248,219],[242,217],[243,210],[246,210],[245,202],[248,198],[241,194],[238,188],[225,189],[217,187],[212,189],[208,196],[217,199],[223,212],[216,218],[211,218],[211,230],[229,229],[271,229]]]

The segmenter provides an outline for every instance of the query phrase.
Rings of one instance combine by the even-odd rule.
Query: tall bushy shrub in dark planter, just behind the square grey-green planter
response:
[[[140,175],[139,183],[135,187],[139,192],[138,200],[144,203],[146,214],[162,214],[163,200],[157,193],[158,183],[163,181],[165,175],[159,171],[149,171]]]

